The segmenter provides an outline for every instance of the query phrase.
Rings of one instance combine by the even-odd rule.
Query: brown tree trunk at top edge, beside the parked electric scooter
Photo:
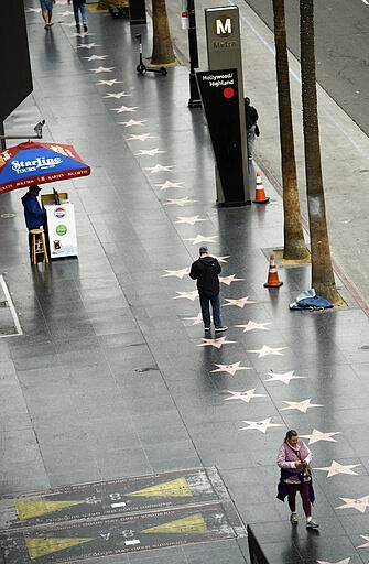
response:
[[[152,0],[153,48],[152,65],[175,63],[165,0]]]

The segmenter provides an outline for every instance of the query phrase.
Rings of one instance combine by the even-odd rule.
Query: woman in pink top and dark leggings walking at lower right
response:
[[[296,494],[299,491],[306,517],[306,528],[318,529],[318,523],[312,519],[312,503],[315,499],[310,469],[312,458],[310,448],[299,438],[297,432],[293,429],[287,431],[276,458],[276,464],[281,468],[276,497],[281,501],[287,497],[291,510],[290,521],[295,525],[299,523],[296,513]]]

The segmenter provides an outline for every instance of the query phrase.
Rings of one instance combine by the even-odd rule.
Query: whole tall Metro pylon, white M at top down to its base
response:
[[[209,130],[213,130],[210,134],[217,162],[217,203],[224,206],[251,204],[238,7],[206,8],[205,23],[209,74],[211,70],[214,76],[218,76],[216,79],[218,87],[215,88],[210,84],[214,80],[208,80],[208,88],[205,88],[206,79],[203,80],[204,91],[202,95],[207,98],[208,107],[205,108],[205,100],[203,104]],[[227,85],[219,83],[221,78],[219,78],[218,72],[220,75],[231,74],[229,79],[234,84],[228,86],[234,88],[235,96],[226,97],[229,90],[221,88]],[[198,77],[202,75],[202,73],[196,74]],[[210,94],[211,89],[213,94]],[[221,93],[220,96],[217,95],[217,90]],[[217,109],[211,108],[213,102],[216,104]],[[224,123],[224,129],[219,128],[219,120]],[[232,130],[232,128],[235,129]],[[227,163],[229,159],[232,161],[231,170]],[[230,177],[228,177],[229,174]]]

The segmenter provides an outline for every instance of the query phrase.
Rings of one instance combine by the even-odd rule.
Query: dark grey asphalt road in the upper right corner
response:
[[[271,0],[247,3],[273,30]],[[300,59],[299,2],[285,0],[287,44]],[[316,74],[321,86],[369,135],[369,1],[315,2]]]

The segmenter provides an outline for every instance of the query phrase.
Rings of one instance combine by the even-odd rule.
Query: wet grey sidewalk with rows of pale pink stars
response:
[[[263,288],[269,253],[283,245],[269,162],[257,160],[268,206],[217,209],[207,129],[202,111],[186,107],[186,68],[138,76],[134,35],[142,32],[150,54],[150,24],[130,29],[89,12],[89,34],[76,37],[68,11],[58,2],[47,34],[41,14],[28,11],[35,89],[7,123],[10,131],[43,117],[45,141],[73,144],[93,173],[61,184],[76,206],[77,260],[32,268],[22,191],[0,198],[0,216],[14,214],[0,217],[0,273],[23,330],[0,338],[0,539],[17,536],[7,511],[21,495],[31,503],[31,492],[50,488],[69,496],[78,484],[210,468],[271,563],[369,562],[359,547],[369,535],[367,316],[339,280],[347,308],[290,312],[310,267],[279,269],[283,285]],[[261,126],[258,155],[273,144]],[[204,338],[184,271],[202,240],[223,261],[224,340]],[[275,500],[276,451],[291,427],[314,454],[318,534],[305,530],[300,506],[291,531],[287,507]],[[167,547],[95,557],[87,543],[84,557],[249,562],[245,536],[186,544],[180,529]],[[98,534],[102,543],[107,533]],[[4,552],[9,542],[0,562],[31,562],[22,534],[12,546],[23,560]],[[37,552],[32,562],[76,562],[78,550]]]

